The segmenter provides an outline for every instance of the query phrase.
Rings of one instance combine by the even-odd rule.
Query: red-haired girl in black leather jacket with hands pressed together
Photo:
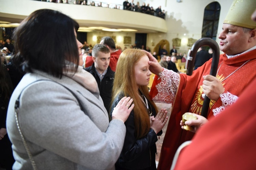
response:
[[[115,164],[116,170],[156,170],[155,143],[168,117],[165,109],[158,112],[155,103],[149,99],[147,85],[152,73],[148,61],[144,51],[127,49],[116,66],[111,111],[123,96],[130,96],[136,103],[125,122],[125,142]]]

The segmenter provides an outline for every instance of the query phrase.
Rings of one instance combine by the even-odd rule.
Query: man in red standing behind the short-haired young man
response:
[[[115,41],[111,37],[103,37],[100,41],[100,44],[103,44],[104,46],[108,47],[110,50],[110,63],[109,67],[112,71],[116,71],[116,63],[118,61],[118,58],[120,54],[122,53],[122,50],[116,50]],[[85,66],[84,67],[90,67],[93,65],[93,56],[87,56],[85,59]]]

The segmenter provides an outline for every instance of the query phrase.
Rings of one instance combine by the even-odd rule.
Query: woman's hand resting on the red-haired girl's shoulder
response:
[[[132,102],[133,99],[130,97],[123,97],[112,112],[112,120],[119,119],[125,122],[134,107]]]

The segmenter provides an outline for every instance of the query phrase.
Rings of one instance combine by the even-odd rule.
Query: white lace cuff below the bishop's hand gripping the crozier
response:
[[[232,95],[230,92],[223,93],[219,96],[221,97],[222,106],[212,110],[215,117],[223,112],[227,107],[235,103],[238,99],[236,95]]]

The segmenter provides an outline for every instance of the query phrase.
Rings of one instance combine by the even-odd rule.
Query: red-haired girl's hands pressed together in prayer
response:
[[[167,115],[166,109],[161,109],[161,111],[157,113],[156,117],[154,116],[150,117],[151,118],[150,128],[153,129],[156,134],[162,130],[163,126],[165,126],[168,120],[168,116],[166,115]]]

